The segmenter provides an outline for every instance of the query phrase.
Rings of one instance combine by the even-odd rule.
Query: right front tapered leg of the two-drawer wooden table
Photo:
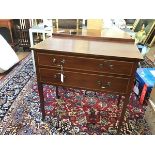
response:
[[[124,102],[123,102],[121,116],[120,116],[119,123],[118,123],[117,134],[120,133],[120,129],[121,129],[121,126],[122,126],[122,122],[124,120],[124,116],[125,116],[125,112],[126,112],[126,109],[127,109],[127,105],[129,103],[129,98],[130,98],[130,95],[126,95],[125,96],[125,99],[124,99]]]

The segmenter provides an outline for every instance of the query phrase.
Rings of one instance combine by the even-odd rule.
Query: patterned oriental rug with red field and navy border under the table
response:
[[[0,134],[116,134],[120,116],[117,95],[62,87],[59,87],[59,94],[61,99],[56,99],[55,87],[44,85],[46,119],[43,122],[29,55],[0,81]],[[132,94],[121,134],[151,134],[144,119],[145,108]]]

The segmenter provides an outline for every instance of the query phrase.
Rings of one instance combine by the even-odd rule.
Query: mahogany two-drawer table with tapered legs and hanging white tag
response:
[[[119,133],[137,64],[142,59],[132,42],[51,37],[33,46],[32,50],[43,119],[43,84],[115,93],[125,96]]]

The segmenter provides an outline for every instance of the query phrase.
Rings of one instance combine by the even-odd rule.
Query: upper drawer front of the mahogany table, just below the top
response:
[[[133,63],[126,61],[64,56],[38,53],[39,66],[71,68],[77,70],[131,75]]]

